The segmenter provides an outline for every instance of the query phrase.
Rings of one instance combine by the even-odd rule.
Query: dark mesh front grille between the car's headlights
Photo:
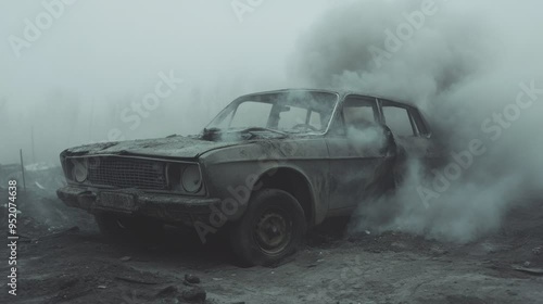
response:
[[[148,190],[167,189],[166,164],[128,157],[90,157],[88,180],[93,185]]]

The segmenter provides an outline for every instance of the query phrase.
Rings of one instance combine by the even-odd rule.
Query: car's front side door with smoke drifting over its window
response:
[[[364,200],[376,169],[390,159],[376,98],[346,96],[326,138],[330,157],[330,212],[350,211]],[[334,212],[336,211],[336,212]]]

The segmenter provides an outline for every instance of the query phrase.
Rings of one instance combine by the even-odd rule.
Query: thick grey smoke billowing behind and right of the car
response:
[[[543,193],[542,9],[539,1],[348,1],[299,39],[290,72],[300,83],[412,101],[453,152],[432,173],[411,160],[393,198],[362,204],[356,229],[372,223],[467,242]],[[397,214],[376,224],[391,204]]]

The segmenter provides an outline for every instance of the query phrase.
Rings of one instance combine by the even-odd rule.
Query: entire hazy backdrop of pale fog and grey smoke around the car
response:
[[[239,94],[308,86],[411,101],[454,152],[459,175],[409,160],[396,195],[359,210],[370,229],[467,242],[543,192],[540,1],[60,1],[31,39],[42,2],[0,3],[2,164],[195,134]]]

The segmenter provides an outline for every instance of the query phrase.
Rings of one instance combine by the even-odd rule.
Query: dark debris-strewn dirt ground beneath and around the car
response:
[[[332,223],[275,268],[237,267],[224,242],[202,245],[179,229],[154,243],[106,242],[88,214],[66,208],[51,190],[30,190],[18,204],[17,296],[4,288],[0,303],[199,303],[204,293],[201,303],[543,301],[542,200],[527,200],[501,231],[465,245],[399,232],[344,237]]]

